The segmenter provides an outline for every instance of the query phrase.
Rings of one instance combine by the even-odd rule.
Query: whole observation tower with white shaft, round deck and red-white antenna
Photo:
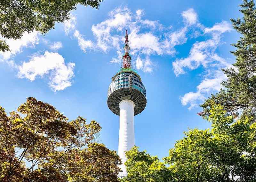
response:
[[[123,172],[119,176],[126,176],[125,151],[134,145],[134,116],[140,114],[147,104],[146,89],[141,81],[140,75],[131,68],[130,47],[128,45],[128,34],[126,30],[123,67],[112,77],[108,87],[108,108],[119,116],[119,143],[118,155],[122,159],[119,166]]]

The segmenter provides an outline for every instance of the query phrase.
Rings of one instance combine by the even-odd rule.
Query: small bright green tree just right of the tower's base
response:
[[[138,147],[126,151],[124,163],[128,176],[121,181],[127,182],[166,182],[171,181],[171,171],[160,162],[157,156],[150,156],[146,150],[140,152]]]

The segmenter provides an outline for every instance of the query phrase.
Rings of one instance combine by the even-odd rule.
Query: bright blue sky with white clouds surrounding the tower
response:
[[[119,117],[107,106],[111,77],[121,66],[128,29],[132,66],[147,92],[135,116],[135,143],[163,158],[184,131],[210,124],[196,113],[220,89],[220,68],[235,61],[239,39],[229,19],[241,17],[241,1],[107,1],[100,9],[78,6],[69,22],[45,36],[7,40],[0,53],[0,105],[15,110],[27,97],[102,126],[100,142],[117,150]]]

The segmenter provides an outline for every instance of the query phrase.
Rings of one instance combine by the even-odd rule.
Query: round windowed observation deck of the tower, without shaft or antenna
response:
[[[129,99],[134,102],[134,116],[142,112],[147,104],[146,89],[140,76],[131,68],[122,68],[108,87],[108,108],[119,115],[119,103]]]

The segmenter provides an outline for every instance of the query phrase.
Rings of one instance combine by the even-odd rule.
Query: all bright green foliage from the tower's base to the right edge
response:
[[[205,118],[212,129],[189,129],[170,149],[165,163],[138,147],[127,151],[128,176],[121,181],[256,181],[256,123],[252,118],[234,119],[219,104],[212,105]]]

